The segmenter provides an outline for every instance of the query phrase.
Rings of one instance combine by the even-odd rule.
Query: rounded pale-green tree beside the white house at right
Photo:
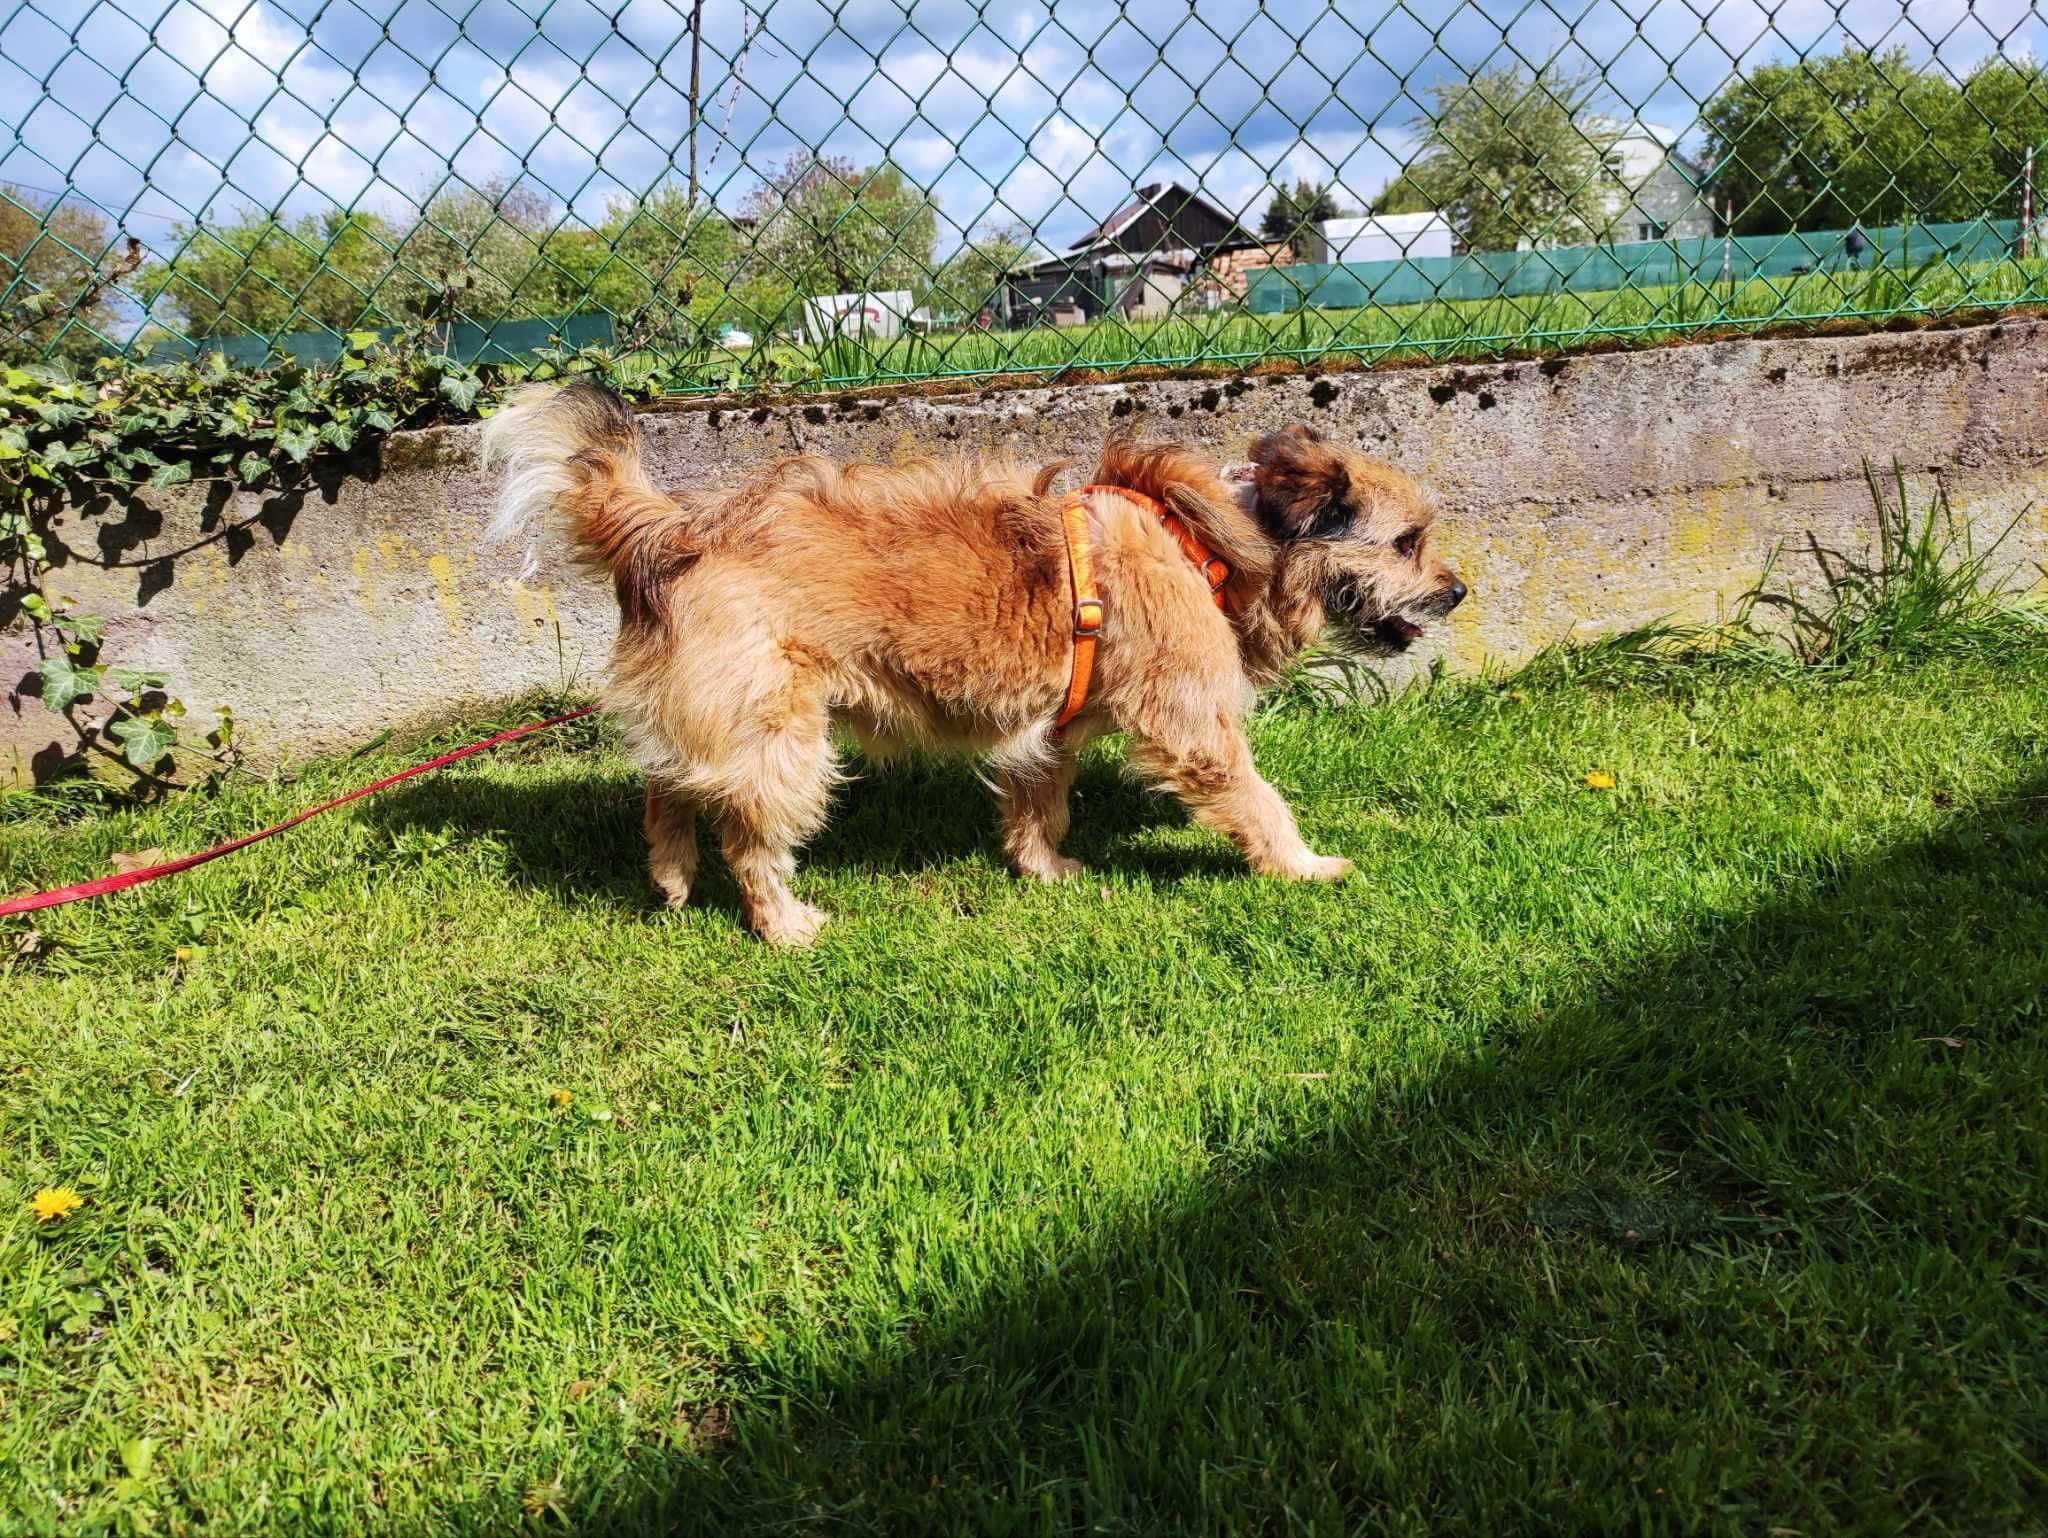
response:
[[[1415,119],[1421,152],[1374,209],[1442,211],[1466,250],[1604,240],[1614,221],[1608,154],[1620,133],[1595,94],[1593,76],[1554,66],[1432,86],[1434,111]]]

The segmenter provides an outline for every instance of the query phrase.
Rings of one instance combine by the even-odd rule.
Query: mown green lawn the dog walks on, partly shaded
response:
[[[2044,1532],[2044,666],[1284,702],[1337,887],[856,766],[801,954],[602,731],[0,922],[0,1532]]]

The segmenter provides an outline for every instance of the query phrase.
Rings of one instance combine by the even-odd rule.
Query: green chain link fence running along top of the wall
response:
[[[8,0],[0,0],[6,6]],[[676,391],[2040,301],[2021,0],[12,0],[0,340]]]

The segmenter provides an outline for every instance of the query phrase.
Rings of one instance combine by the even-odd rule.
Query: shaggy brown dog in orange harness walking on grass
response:
[[[1253,868],[1331,881],[1260,778],[1253,690],[1331,631],[1401,647],[1464,584],[1430,553],[1430,500],[1401,471],[1286,428],[1229,483],[1174,444],[1112,440],[1094,481],[1147,492],[1231,565],[1214,606],[1157,518],[1090,498],[1106,616],[1087,709],[1053,719],[1073,661],[1063,465],[903,467],[801,455],[731,489],[659,492],[633,414],[592,385],[528,387],[483,428],[506,467],[496,537],[545,514],[612,578],[621,631],[610,711],[647,772],[647,844],[670,903],[696,877],[696,815],[719,825],[748,917],[805,944],[823,913],[788,887],[836,780],[834,723],[862,747],[946,747],[993,762],[1020,874],[1079,870],[1059,852],[1081,745],[1128,731],[1130,762],[1229,836]]]

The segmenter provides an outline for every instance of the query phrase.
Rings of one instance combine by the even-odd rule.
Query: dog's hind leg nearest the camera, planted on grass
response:
[[[727,788],[719,805],[719,836],[748,924],[762,940],[811,944],[825,915],[797,901],[788,879],[797,870],[797,846],[823,827],[831,795],[823,700],[797,700],[784,719],[752,737],[723,766],[721,778]]]

